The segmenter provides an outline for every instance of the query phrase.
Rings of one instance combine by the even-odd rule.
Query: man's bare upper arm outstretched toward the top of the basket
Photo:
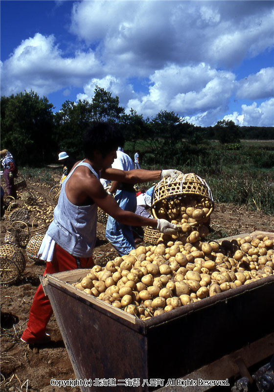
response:
[[[161,170],[134,169],[129,171],[118,169],[106,169],[101,172],[101,177],[128,184],[139,184],[147,181],[157,181],[160,179]]]

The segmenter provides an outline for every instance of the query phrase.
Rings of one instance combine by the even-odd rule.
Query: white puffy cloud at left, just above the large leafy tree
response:
[[[3,62],[1,93],[10,95],[34,90],[41,95],[69,85],[82,86],[87,76],[101,71],[100,62],[89,49],[74,57],[63,57],[53,35],[37,33],[23,40]]]

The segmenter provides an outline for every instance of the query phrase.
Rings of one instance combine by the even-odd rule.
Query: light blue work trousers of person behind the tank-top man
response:
[[[122,210],[136,211],[137,199],[134,192],[117,191],[114,198]],[[106,238],[121,256],[129,254],[135,248],[131,226],[115,221],[110,215],[107,221]]]

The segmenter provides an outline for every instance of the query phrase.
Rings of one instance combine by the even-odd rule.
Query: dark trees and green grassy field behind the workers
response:
[[[126,114],[118,97],[96,86],[91,102],[67,100],[56,113],[34,92],[2,97],[1,148],[12,152],[26,176],[50,183],[46,165],[57,163],[62,150],[82,158],[83,132],[101,120],[120,127],[125,151],[133,157],[139,149],[143,168],[195,172],[206,179],[216,202],[274,214],[274,127],[225,120],[199,127],[165,110],[144,119],[134,109]]]

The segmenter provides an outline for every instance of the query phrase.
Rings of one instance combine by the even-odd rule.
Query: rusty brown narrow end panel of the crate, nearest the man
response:
[[[148,378],[146,337],[51,286],[47,293],[77,378]],[[113,387],[126,392],[128,387]],[[107,392],[111,387],[100,387]],[[84,388],[94,392],[98,388]],[[131,388],[132,392],[144,389]]]

